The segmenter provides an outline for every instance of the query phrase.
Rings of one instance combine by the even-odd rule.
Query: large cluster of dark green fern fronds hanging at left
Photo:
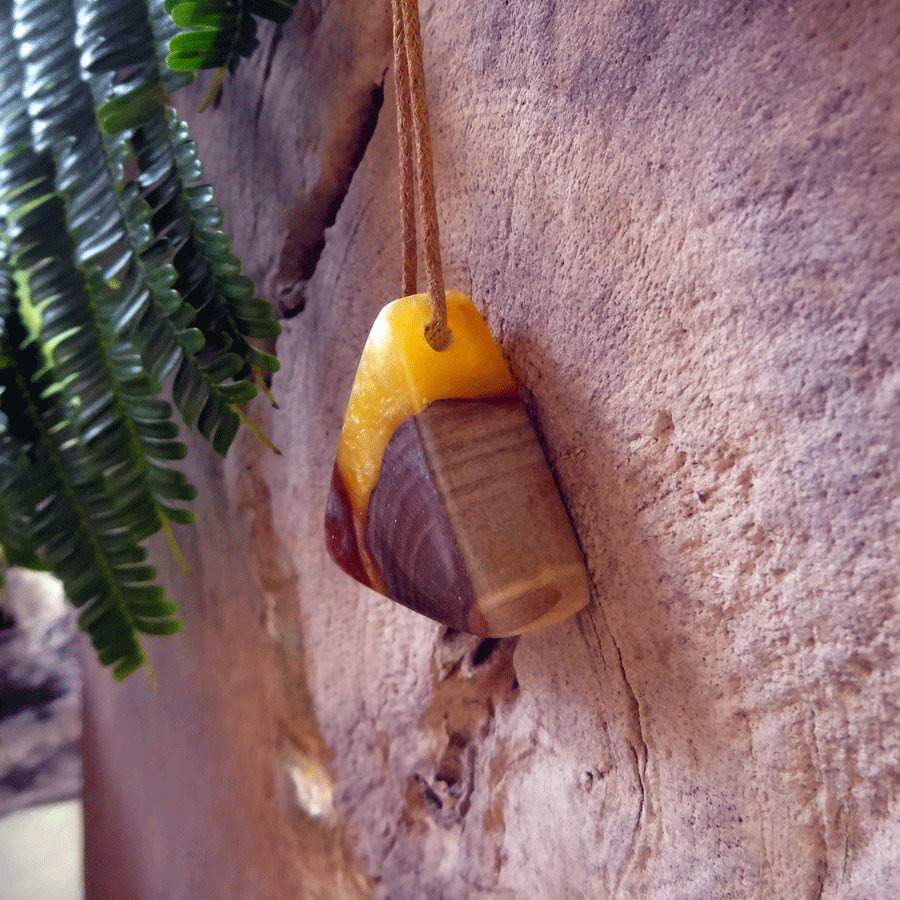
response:
[[[0,0],[0,29],[0,553],[61,578],[121,678],[179,627],[141,546],[192,520],[160,384],[224,454],[279,327],[165,108],[192,75],[163,0]]]

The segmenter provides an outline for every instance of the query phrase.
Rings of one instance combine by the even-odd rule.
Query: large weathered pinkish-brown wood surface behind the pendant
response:
[[[576,619],[484,645],[322,541],[399,290],[389,78],[310,250],[377,112],[384,6],[265,32],[195,117],[236,249],[306,308],[281,410],[255,407],[285,455],[242,439],[196,473],[160,692],[88,673],[130,896],[897,897],[900,4],[422,4],[446,280],[593,579]],[[328,767],[320,818],[278,803],[285,733],[306,795]]]

